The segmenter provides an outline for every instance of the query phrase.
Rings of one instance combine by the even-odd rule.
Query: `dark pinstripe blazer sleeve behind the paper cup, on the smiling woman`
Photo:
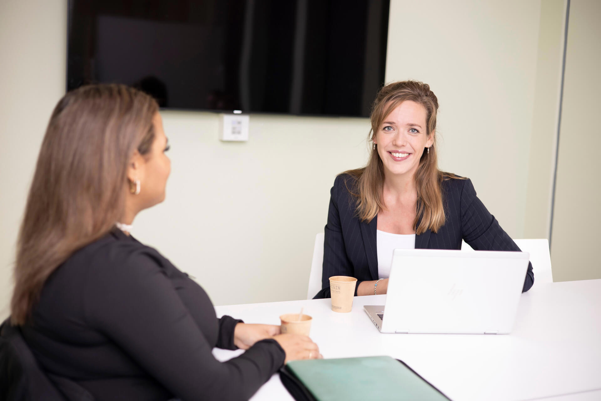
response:
[[[331,298],[330,281],[332,276],[356,277],[355,269],[350,263],[344,245],[344,237],[338,211],[340,201],[340,185],[344,185],[343,177],[338,176],[334,180],[334,186],[330,190],[330,206],[328,208],[328,224],[324,228],[323,240],[323,265],[322,265],[322,289],[314,296],[317,298]],[[355,285],[355,296],[362,281]]]

